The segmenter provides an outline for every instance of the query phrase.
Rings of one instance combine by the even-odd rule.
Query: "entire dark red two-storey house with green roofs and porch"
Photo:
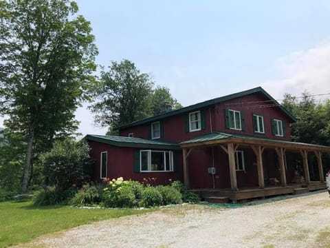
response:
[[[95,179],[179,179],[205,198],[239,200],[325,188],[330,147],[291,142],[294,121],[256,87],[128,123],[120,136],[86,138]]]

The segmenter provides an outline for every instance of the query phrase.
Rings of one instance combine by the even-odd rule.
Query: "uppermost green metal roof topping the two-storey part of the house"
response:
[[[282,107],[282,105],[280,103],[278,103],[278,101],[276,101],[274,98],[272,98],[272,96],[270,96],[270,94],[265,92],[265,90],[263,90],[262,87],[255,87],[253,89],[245,90],[243,92],[238,92],[238,93],[230,94],[230,95],[227,95],[227,96],[221,96],[219,98],[211,99],[211,100],[208,100],[208,101],[203,101],[201,103],[196,103],[196,104],[190,105],[188,107],[182,107],[179,110],[172,110],[172,111],[169,111],[169,112],[165,112],[163,114],[158,114],[157,116],[151,116],[151,117],[148,117],[148,118],[144,118],[140,121],[134,121],[132,123],[128,123],[126,125],[116,127],[116,129],[117,130],[123,130],[127,127],[134,127],[136,125],[142,125],[142,124],[145,124],[145,123],[151,123],[151,122],[154,122],[154,121],[159,121],[159,120],[161,120],[163,118],[166,118],[166,117],[169,117],[169,116],[173,116],[173,115],[176,115],[176,114],[183,114],[183,113],[186,113],[186,112],[191,112],[192,110],[198,110],[198,109],[201,109],[203,107],[207,107],[209,105],[213,105],[213,104],[216,104],[216,103],[222,103],[224,101],[229,101],[229,100],[241,97],[241,96],[246,96],[246,95],[254,94],[254,93],[258,93],[258,92],[265,95],[268,99],[270,99],[272,101],[271,104],[278,105],[278,107],[287,115],[287,117],[289,119],[292,120],[292,122],[296,122],[296,118],[294,118],[294,116],[292,116],[292,114],[287,112],[287,110],[285,110],[285,108]]]

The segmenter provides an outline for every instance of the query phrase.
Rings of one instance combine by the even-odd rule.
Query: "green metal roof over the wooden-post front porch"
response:
[[[313,145],[307,143],[298,143],[292,141],[281,141],[272,138],[259,138],[242,134],[228,134],[224,132],[212,132],[204,134],[188,141],[181,142],[182,148],[212,146],[223,143],[235,143],[239,145],[261,145],[263,147],[282,147],[288,150],[298,151],[305,149],[311,152],[330,153],[330,147],[324,145]]]

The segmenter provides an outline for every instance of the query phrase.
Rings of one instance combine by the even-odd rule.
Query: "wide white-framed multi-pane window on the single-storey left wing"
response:
[[[173,172],[173,152],[141,150],[141,172]]]

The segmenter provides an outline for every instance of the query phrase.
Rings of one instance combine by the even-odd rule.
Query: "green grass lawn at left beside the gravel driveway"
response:
[[[97,220],[141,214],[151,210],[77,209],[66,206],[34,207],[32,202],[0,203],[0,247],[28,242],[43,234]]]

